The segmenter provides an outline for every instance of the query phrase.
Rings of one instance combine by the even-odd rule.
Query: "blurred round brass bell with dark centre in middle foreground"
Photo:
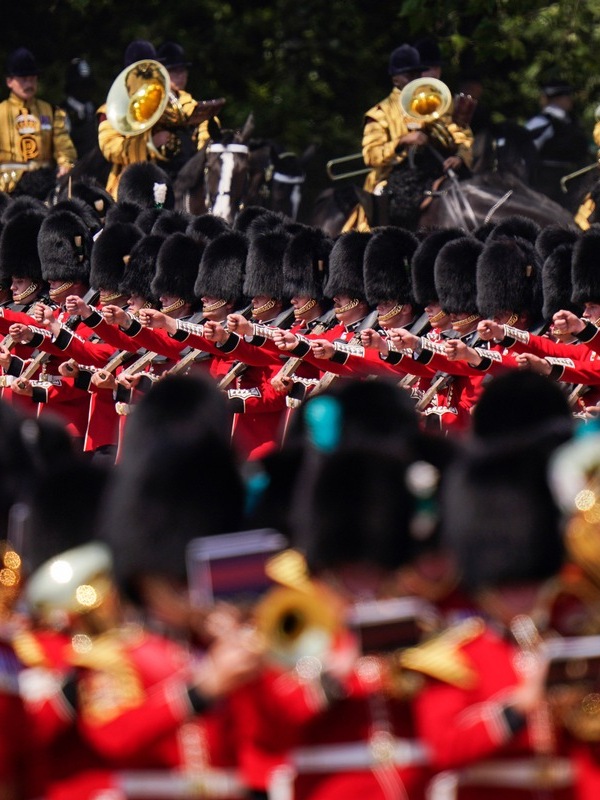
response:
[[[322,659],[340,629],[331,603],[316,588],[311,593],[273,589],[257,605],[255,622],[267,653],[289,669],[301,659]]]

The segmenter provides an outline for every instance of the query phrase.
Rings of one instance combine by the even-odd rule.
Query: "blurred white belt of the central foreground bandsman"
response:
[[[429,759],[425,747],[414,739],[393,739],[389,758],[378,758],[376,748],[368,742],[317,745],[300,747],[291,753],[291,763],[296,772],[358,771],[393,764],[397,767],[426,764]]]

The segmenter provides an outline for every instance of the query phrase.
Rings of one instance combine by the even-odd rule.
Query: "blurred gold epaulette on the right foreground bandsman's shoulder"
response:
[[[400,666],[460,689],[470,689],[477,681],[477,673],[460,648],[477,639],[484,630],[482,619],[469,617],[432,639],[404,650],[400,654]]]

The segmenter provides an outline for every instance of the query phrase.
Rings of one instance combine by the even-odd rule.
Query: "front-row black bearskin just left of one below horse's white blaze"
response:
[[[177,297],[196,303],[194,285],[203,248],[185,233],[172,233],[158,253],[152,292],[157,296]]]

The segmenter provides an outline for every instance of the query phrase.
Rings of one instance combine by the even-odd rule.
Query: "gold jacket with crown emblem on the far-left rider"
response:
[[[35,161],[40,167],[62,167],[76,159],[64,111],[38,98],[25,104],[13,92],[0,103],[0,191],[12,192],[23,175],[3,171],[2,164]]]

